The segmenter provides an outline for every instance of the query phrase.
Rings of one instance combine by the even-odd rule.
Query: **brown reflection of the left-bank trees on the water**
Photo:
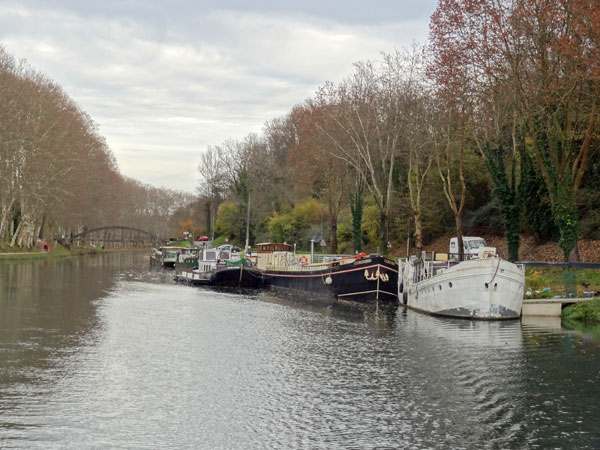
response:
[[[60,354],[97,324],[92,300],[110,287],[114,269],[100,259],[0,265],[0,383],[43,381]]]

